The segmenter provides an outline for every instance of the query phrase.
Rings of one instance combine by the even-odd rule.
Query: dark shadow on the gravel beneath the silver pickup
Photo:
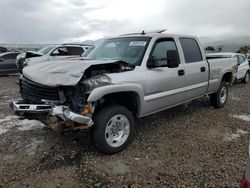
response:
[[[144,117],[142,119],[136,120],[137,125],[137,135],[136,138],[144,134],[150,134],[152,130],[162,129],[164,126],[172,126],[176,120],[180,118],[185,119],[190,117],[194,113],[199,113],[202,109],[212,108],[209,104],[208,97],[203,97],[186,104],[182,104],[171,109],[152,114],[150,116]],[[165,123],[167,125],[165,125]],[[52,133],[54,134],[54,133]],[[103,156],[97,152],[91,144],[91,139],[89,134],[79,133],[79,132],[68,132],[61,135],[54,134],[57,139],[57,144],[55,147],[59,148],[72,148],[72,150],[77,151],[78,154],[85,155],[86,153],[92,153],[94,155]]]

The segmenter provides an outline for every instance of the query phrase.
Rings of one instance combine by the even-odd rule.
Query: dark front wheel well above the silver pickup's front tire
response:
[[[140,109],[139,96],[136,92],[118,92],[107,94],[98,101],[95,112],[106,106],[118,104],[127,108],[135,117],[138,116]]]

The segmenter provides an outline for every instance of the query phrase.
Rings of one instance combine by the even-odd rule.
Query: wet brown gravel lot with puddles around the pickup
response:
[[[16,76],[0,77],[0,187],[238,187],[250,140],[250,84],[225,108],[208,98],[138,120],[123,152],[96,152],[87,134],[60,134],[13,116]]]

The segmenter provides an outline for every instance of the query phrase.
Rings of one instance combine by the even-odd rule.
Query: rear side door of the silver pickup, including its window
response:
[[[186,97],[193,99],[206,93],[209,67],[196,39],[181,37],[179,40],[185,61]]]

